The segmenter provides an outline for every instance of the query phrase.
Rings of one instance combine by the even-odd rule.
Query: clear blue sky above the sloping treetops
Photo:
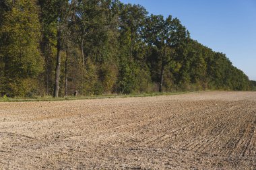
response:
[[[191,38],[223,52],[256,81],[256,0],[121,0],[181,20]]]

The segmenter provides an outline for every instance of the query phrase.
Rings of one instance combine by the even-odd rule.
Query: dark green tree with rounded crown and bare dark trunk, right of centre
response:
[[[144,40],[150,46],[156,46],[160,54],[159,92],[162,92],[164,69],[172,60],[174,50],[189,38],[189,32],[177,18],[172,19],[169,15],[164,19],[162,15],[151,15],[143,33]]]

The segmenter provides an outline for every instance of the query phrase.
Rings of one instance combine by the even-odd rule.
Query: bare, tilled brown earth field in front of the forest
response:
[[[256,169],[256,93],[0,103],[0,169]]]

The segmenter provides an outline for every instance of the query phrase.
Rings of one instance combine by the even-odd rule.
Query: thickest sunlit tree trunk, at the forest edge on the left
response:
[[[57,58],[53,97],[59,97],[59,76],[61,75],[61,31],[57,32]]]

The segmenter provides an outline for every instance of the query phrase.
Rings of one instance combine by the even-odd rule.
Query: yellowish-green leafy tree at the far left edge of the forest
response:
[[[36,0],[13,1],[2,15],[0,58],[5,87],[2,91],[24,96],[36,89],[42,71],[40,22]]]

